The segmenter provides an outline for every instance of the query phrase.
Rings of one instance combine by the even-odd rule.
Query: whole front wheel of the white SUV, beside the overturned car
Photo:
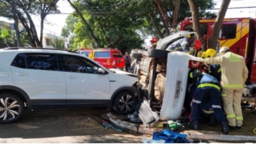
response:
[[[137,102],[138,99],[132,92],[120,92],[114,99],[113,109],[119,115],[128,115],[135,111],[133,106],[136,105]]]

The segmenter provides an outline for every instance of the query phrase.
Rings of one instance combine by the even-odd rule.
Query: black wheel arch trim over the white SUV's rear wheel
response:
[[[30,98],[28,94],[21,88],[18,88],[16,86],[3,85],[0,86],[0,93],[3,92],[11,92],[12,94],[16,94],[16,96],[20,97],[24,102],[26,102],[27,107],[30,108]]]

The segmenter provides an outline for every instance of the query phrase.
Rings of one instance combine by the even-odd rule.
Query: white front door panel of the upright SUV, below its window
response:
[[[108,75],[64,72],[67,99],[110,99]]]

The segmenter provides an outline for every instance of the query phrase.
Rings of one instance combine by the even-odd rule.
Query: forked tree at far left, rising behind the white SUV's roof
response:
[[[1,5],[0,6],[11,6],[11,4],[15,4],[16,6],[16,16],[18,16],[18,20],[22,23],[22,26],[26,29],[28,32],[28,37],[30,38],[30,41],[33,46],[43,46],[42,45],[42,39],[43,39],[43,26],[45,22],[46,16],[53,12],[58,13],[59,11],[56,8],[56,3],[58,0],[0,0]],[[0,16],[9,16],[11,14],[9,13],[9,10],[4,9],[4,14],[0,14]],[[39,33],[39,37],[37,35],[37,29],[35,27],[35,24],[32,20],[32,16],[37,15],[41,18],[41,29]]]

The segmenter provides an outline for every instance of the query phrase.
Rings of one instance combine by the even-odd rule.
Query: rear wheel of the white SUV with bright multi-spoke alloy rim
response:
[[[0,94],[0,123],[16,122],[24,112],[24,101],[9,93]]]

